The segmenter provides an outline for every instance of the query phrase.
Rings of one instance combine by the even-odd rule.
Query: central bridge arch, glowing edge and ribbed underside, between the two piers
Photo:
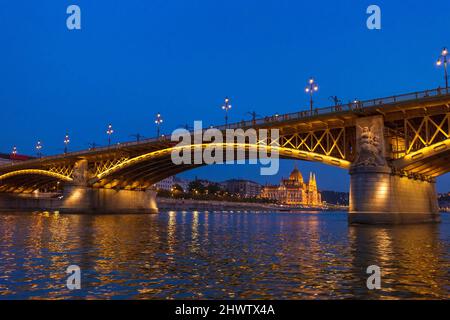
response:
[[[257,156],[261,151],[263,154],[266,152],[272,154],[277,152],[280,158],[314,161],[343,169],[348,169],[351,164],[349,161],[344,159],[287,147],[249,143],[192,144],[189,146],[169,147],[124,160],[102,171],[101,173],[98,173],[93,179],[91,179],[90,183],[97,187],[106,188],[148,188],[151,184],[166,177],[205,165],[205,163],[176,165],[172,162],[172,152],[180,152],[181,150],[186,149],[193,152],[196,148],[197,150],[201,148],[202,151],[205,150],[205,148],[209,148],[209,150],[214,148],[222,148],[221,150],[226,150],[228,148],[234,150],[234,152],[236,152],[236,150],[246,150],[244,158],[249,158],[251,151],[256,152]],[[192,157],[192,160],[193,159],[194,158]],[[239,157],[236,157],[235,159],[239,159]],[[226,160],[225,156],[224,160]]]

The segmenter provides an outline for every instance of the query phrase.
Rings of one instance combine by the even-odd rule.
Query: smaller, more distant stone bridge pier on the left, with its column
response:
[[[156,192],[92,188],[89,186],[88,161],[74,166],[73,181],[63,190],[62,213],[157,213]]]

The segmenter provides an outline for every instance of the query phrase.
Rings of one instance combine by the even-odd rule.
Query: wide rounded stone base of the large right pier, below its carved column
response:
[[[351,170],[350,224],[439,222],[434,182],[400,177],[390,168]]]

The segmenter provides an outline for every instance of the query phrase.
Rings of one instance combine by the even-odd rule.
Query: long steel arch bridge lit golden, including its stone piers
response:
[[[435,178],[450,171],[450,94],[445,89],[215,128],[279,130],[278,139],[258,137],[243,144],[236,137],[223,144],[236,150],[244,146],[245,157],[258,148],[349,170],[352,223],[438,220]],[[8,200],[0,198],[0,207],[11,207],[13,198],[20,207],[36,191],[56,191],[62,192],[62,212],[156,211],[151,186],[202,165],[174,164],[171,152],[177,144],[158,137],[2,165],[0,193]],[[208,146],[192,143],[190,148]]]

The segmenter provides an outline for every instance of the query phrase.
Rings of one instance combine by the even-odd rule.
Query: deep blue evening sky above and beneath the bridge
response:
[[[66,28],[66,8],[77,4],[82,30]],[[366,28],[366,8],[382,9],[382,30]],[[0,150],[61,152],[66,130],[71,149],[115,141],[140,132],[155,135],[154,115],[164,131],[203,120],[230,120],[306,109],[304,86],[313,75],[320,91],[344,101],[442,85],[434,62],[450,45],[449,1],[3,1],[0,5]],[[299,163],[316,171],[322,189],[347,190],[338,169]],[[257,167],[214,166],[185,176],[275,182]],[[441,191],[450,177],[439,179]]]

